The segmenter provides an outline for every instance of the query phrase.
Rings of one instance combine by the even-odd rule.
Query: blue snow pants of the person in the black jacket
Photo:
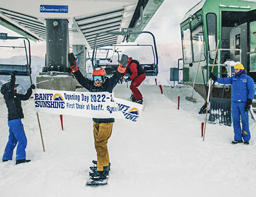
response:
[[[8,121],[9,140],[3,153],[3,160],[12,160],[13,149],[17,145],[16,160],[26,159],[27,137],[21,119]],[[18,144],[17,144],[18,143]]]

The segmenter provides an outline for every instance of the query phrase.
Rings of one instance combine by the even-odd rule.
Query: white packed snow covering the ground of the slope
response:
[[[230,144],[233,129],[207,123],[205,141],[198,111],[204,100],[185,100],[191,87],[141,85],[144,110],[136,123],[117,119],[109,140],[108,185],[86,187],[91,160],[96,159],[91,118],[39,114],[45,152],[33,99],[23,101],[24,129],[30,163],[0,163],[0,196],[247,196],[256,194],[256,123],[250,118],[250,145]],[[120,84],[115,97],[129,100]],[[180,109],[177,100],[180,96]],[[8,141],[7,110],[0,97],[0,150]]]

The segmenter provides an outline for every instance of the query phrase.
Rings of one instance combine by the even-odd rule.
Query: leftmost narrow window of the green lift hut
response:
[[[189,23],[182,27],[182,49],[184,64],[192,63],[191,31]]]

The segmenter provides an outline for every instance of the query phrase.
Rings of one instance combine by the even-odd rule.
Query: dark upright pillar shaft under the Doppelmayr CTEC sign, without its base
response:
[[[67,72],[69,28],[66,19],[46,19],[47,70]]]

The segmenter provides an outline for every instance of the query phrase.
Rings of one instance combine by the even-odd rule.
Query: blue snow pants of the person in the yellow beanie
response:
[[[246,103],[243,102],[232,102],[232,118],[233,118],[233,129],[234,129],[234,140],[249,141],[251,138],[249,130],[249,111],[244,110]],[[240,117],[242,128],[240,125]]]

